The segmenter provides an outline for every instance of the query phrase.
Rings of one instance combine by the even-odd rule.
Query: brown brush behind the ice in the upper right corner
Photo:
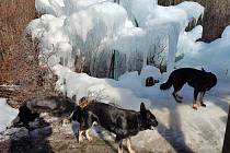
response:
[[[161,5],[172,5],[185,0],[158,0]],[[204,26],[203,40],[211,42],[221,36],[230,24],[230,0],[193,0],[206,8],[202,22]]]

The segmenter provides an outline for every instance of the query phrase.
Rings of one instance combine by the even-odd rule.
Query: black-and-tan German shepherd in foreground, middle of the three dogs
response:
[[[119,144],[119,153],[123,152],[122,143],[124,139],[127,139],[128,151],[133,153],[135,151],[131,149],[130,137],[136,136],[139,131],[153,129],[153,127],[158,126],[154,115],[146,109],[143,103],[140,105],[140,111],[135,111],[122,109],[110,104],[93,102],[83,108],[77,106],[73,111],[72,123],[80,123],[78,128],[72,127],[78,142],[82,140],[83,134],[85,134],[89,141],[92,140],[89,136],[89,129],[94,121],[116,134],[115,142]]]

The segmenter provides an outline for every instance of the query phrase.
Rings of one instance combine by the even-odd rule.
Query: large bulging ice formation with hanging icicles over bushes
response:
[[[161,51],[166,59],[163,64],[171,71],[177,40],[188,22],[203,15],[204,7],[196,2],[175,7],[157,3],[157,0],[120,0],[119,3],[112,0],[36,0],[37,11],[47,14],[32,21],[27,32],[42,42],[43,54],[55,52],[49,66],[61,63],[74,70],[76,56],[80,54],[91,75],[99,76],[99,68],[108,71],[114,62],[115,78],[118,78],[127,70],[145,67],[147,58],[151,58],[149,55],[162,49],[160,43],[164,45]],[[113,55],[115,61],[112,61]],[[130,62],[136,66],[128,64]],[[108,76],[108,72],[102,76]]]

